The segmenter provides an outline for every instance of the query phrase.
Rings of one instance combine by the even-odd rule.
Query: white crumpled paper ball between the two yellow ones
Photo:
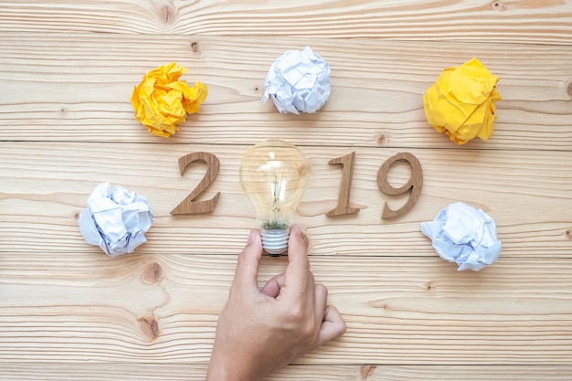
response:
[[[281,113],[312,113],[330,96],[330,66],[310,47],[288,50],[276,58],[264,80],[266,103],[271,99]]]

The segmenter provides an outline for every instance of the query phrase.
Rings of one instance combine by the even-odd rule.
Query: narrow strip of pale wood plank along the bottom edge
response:
[[[24,363],[0,365],[5,381],[204,381],[207,365]],[[266,381],[569,381],[570,365],[291,365]]]

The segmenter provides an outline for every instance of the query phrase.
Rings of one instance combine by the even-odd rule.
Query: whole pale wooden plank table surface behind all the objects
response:
[[[332,68],[315,114],[263,104],[285,50]],[[479,58],[500,78],[489,142],[451,143],[421,96]],[[209,94],[181,132],[150,135],[129,98],[175,61]],[[269,380],[572,379],[572,1],[0,1],[0,379],[203,380],[217,315],[254,212],[242,154],[280,138],[312,166],[298,224],[347,333]],[[213,153],[207,215],[169,212]],[[327,217],[355,152],[356,215]],[[418,157],[424,187],[380,217],[379,167]],[[403,184],[407,166],[392,168]],[[147,197],[148,242],[109,258],[78,216],[96,185]],[[494,218],[503,251],[479,272],[440,259],[420,224],[462,201]],[[287,259],[264,258],[260,282]]]

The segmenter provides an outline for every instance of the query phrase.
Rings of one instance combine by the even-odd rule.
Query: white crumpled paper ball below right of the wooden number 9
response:
[[[501,253],[493,218],[461,202],[441,210],[433,221],[422,223],[421,231],[432,240],[440,258],[456,262],[460,271],[481,270]]]

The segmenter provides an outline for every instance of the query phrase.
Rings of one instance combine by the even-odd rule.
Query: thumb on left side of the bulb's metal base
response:
[[[262,256],[262,240],[258,230],[250,230],[247,246],[238,254],[233,287],[258,288],[259,263]]]

